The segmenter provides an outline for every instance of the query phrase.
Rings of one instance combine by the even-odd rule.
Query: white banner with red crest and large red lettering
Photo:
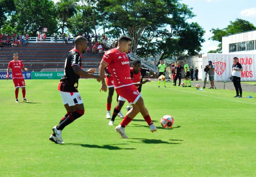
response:
[[[233,58],[237,57],[238,62],[242,65],[241,81],[256,81],[256,54],[221,54],[208,53],[203,56],[203,66],[208,64],[211,60],[215,65],[215,81],[231,81],[229,77],[232,76],[231,68],[233,65]],[[203,73],[203,79],[205,72]]]

